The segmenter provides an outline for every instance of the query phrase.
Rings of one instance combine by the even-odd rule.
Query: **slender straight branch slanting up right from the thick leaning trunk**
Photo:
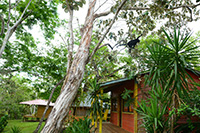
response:
[[[94,48],[94,50],[92,51],[91,55],[88,57],[86,63],[88,63],[88,62],[91,60],[91,58],[93,57],[94,53],[98,50],[100,44],[103,42],[103,40],[104,40],[104,38],[106,37],[107,33],[110,31],[112,25],[114,24],[114,22],[115,22],[115,20],[116,20],[116,18],[117,18],[117,15],[118,15],[119,11],[122,9],[122,7],[123,7],[123,5],[126,3],[126,1],[127,1],[127,0],[123,0],[123,1],[121,2],[121,4],[119,5],[119,7],[117,8],[117,11],[116,11],[116,13],[115,13],[115,15],[114,15],[114,17],[113,17],[113,20],[112,20],[111,23],[109,24],[108,29],[105,31],[105,33],[103,34],[102,38],[100,39],[100,41],[98,42],[98,44],[96,45],[96,47]]]

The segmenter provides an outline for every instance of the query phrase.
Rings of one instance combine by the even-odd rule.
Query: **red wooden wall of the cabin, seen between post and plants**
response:
[[[188,71],[188,73],[190,74],[190,76],[194,79],[195,82],[200,83],[199,80],[199,76],[195,75],[194,73],[192,73],[191,71]],[[143,79],[142,75],[142,80],[140,81],[139,85],[138,85],[138,101],[140,101],[141,99],[145,98],[146,96],[146,92],[148,90],[150,90],[150,87],[148,86],[144,86],[144,79]],[[130,90],[134,90],[134,80],[129,80],[126,82],[123,82],[119,85],[116,86],[116,89],[112,90],[111,92],[111,98],[117,98],[118,100],[120,99],[120,95],[121,93],[123,93],[124,88],[126,89],[130,89]],[[200,87],[197,87],[200,90]],[[118,105],[119,108],[119,105]],[[119,110],[118,110],[119,111]],[[139,119],[139,118],[138,118]],[[129,131],[129,132],[134,132],[134,114],[130,113],[122,113],[122,128]],[[193,121],[197,121],[196,119]],[[117,125],[118,124],[118,113],[117,112],[111,112],[111,119],[110,122]],[[186,119],[184,119],[184,116],[179,119],[180,123],[184,123],[186,122]],[[141,125],[141,120],[138,121],[138,131],[139,132],[145,132],[144,128],[139,128]]]

